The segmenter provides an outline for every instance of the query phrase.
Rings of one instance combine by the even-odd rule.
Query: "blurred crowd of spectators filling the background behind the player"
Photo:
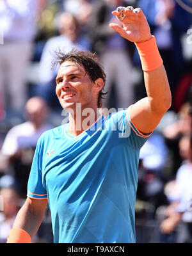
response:
[[[0,0],[0,243],[26,198],[38,138],[62,122],[55,52],[97,53],[107,75],[107,108],[127,108],[146,96],[134,44],[108,26],[118,22],[111,11],[130,5],[147,16],[172,91],[172,107],[141,148],[136,239],[146,242],[141,226],[154,221],[157,243],[191,243],[192,8],[175,0]],[[49,208],[32,243],[52,243]]]

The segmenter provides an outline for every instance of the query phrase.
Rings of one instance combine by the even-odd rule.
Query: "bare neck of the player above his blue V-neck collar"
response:
[[[101,109],[99,108],[76,109],[74,113],[69,113],[68,132],[72,136],[78,136],[94,124],[100,115]]]

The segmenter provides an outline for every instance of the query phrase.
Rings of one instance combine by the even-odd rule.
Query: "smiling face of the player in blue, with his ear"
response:
[[[102,79],[101,79],[102,80]],[[81,108],[97,108],[100,79],[92,82],[83,67],[73,61],[61,64],[56,77],[56,95],[63,109],[76,109],[76,103]]]

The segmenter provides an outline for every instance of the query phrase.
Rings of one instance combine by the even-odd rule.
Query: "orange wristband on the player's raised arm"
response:
[[[157,48],[155,36],[152,36],[148,41],[135,43],[135,45],[140,54],[143,71],[155,70],[163,64],[163,60]]]

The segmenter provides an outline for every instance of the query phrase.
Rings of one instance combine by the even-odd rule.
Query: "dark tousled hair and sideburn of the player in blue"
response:
[[[70,60],[81,67],[84,67],[84,70],[86,74],[90,77],[92,82],[94,83],[98,78],[102,78],[104,81],[104,84],[106,82],[106,74],[104,72],[104,68],[99,63],[99,59],[97,57],[97,54],[92,53],[90,51],[77,51],[77,49],[72,49],[72,51],[67,52],[67,54],[61,52],[60,50],[55,52],[56,56],[54,60],[52,61],[52,67],[55,67],[56,65],[61,65],[63,62]],[[107,93],[104,92],[104,87],[99,92],[98,97],[98,106],[102,106],[102,99],[104,99],[104,95]]]

